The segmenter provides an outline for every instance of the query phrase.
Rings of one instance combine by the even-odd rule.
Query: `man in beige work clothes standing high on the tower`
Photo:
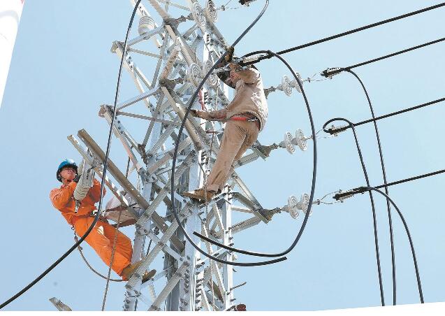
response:
[[[224,78],[224,83],[235,89],[233,101],[222,110],[191,110],[191,115],[204,120],[226,122],[217,160],[207,178],[207,185],[183,194],[192,199],[210,200],[221,192],[233,172],[233,162],[238,161],[255,143],[268,117],[268,103],[259,71],[254,67],[241,69],[238,64],[229,65],[232,70]]]

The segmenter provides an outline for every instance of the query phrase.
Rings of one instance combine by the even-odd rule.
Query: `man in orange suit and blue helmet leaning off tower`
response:
[[[83,236],[94,221],[93,211],[96,210],[94,203],[99,202],[101,183],[94,179],[93,186],[89,189],[85,199],[80,201],[80,206],[76,213],[73,192],[80,178],[80,175],[77,173],[78,166],[73,159],[62,161],[59,164],[59,168],[57,168],[57,180],[62,185],[58,189],[52,189],[50,199],[54,208],[57,208],[65,217],[66,222],[74,227],[75,234]],[[105,188],[103,189],[103,195],[105,195]],[[96,222],[92,231],[85,238],[85,241],[93,247],[107,266],[110,266],[115,234],[116,228],[108,224],[108,221],[103,217],[99,217],[99,221]],[[123,280],[128,280],[142,264],[142,261],[131,264],[132,254],[133,247],[130,238],[117,231],[115,254],[111,268],[115,273],[122,276]],[[152,278],[155,273],[156,270],[145,271],[143,282]]]

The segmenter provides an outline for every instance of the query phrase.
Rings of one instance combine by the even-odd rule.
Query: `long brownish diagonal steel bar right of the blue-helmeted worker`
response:
[[[87,145],[89,150],[93,152],[93,155],[98,157],[103,162],[103,160],[105,159],[105,152],[103,152],[103,150],[99,147],[99,145],[97,145],[93,138],[89,136],[87,131],[85,131],[85,129],[80,129],[80,131],[78,131],[78,136],[83,141],[83,143]],[[119,168],[117,168],[117,166],[111,159],[108,159],[108,171],[113,176],[113,178],[117,180],[119,185],[124,188],[124,190],[128,194],[130,194],[130,196],[138,203],[141,208],[147,209],[149,207],[149,203],[147,202],[147,200],[144,199],[144,197],[138,192],[136,187],[133,186],[133,184],[125,177],[125,175],[119,170]],[[166,224],[166,222],[164,222],[164,220],[158,213],[152,213],[152,221],[154,222],[154,224],[156,224],[157,227],[159,227],[162,232],[167,231],[168,225]],[[173,245],[175,245],[175,247],[177,247],[178,250],[184,250],[184,244],[182,243],[182,240],[180,240],[176,236],[172,236],[171,242],[173,243]]]

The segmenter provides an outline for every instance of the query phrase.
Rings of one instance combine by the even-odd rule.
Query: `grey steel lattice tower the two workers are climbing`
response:
[[[135,2],[131,2],[134,6]],[[171,210],[170,181],[175,182],[175,205],[180,210],[188,234],[194,236],[193,232],[198,231],[224,245],[233,245],[236,233],[261,222],[267,223],[273,214],[282,210],[296,218],[298,210],[307,210],[307,199],[304,196],[298,202],[295,197],[289,198],[287,206],[265,210],[270,215],[266,219],[258,213],[263,210],[261,203],[236,171],[233,171],[223,194],[207,205],[199,205],[181,196],[181,192],[202,187],[205,183],[206,174],[218,152],[224,124],[194,117],[187,119],[185,134],[179,140],[180,155],[175,179],[170,178],[171,145],[178,141],[177,130],[191,95],[207,69],[228,46],[214,24],[218,11],[212,1],[206,1],[204,6],[196,0],[184,0],[180,4],[162,0],[147,2],[150,10],[144,5],[138,8],[139,35],[129,40],[124,56],[125,69],[138,89],[138,95],[117,105],[113,126],[113,132],[128,156],[129,166],[123,172],[110,159],[108,172],[111,177],[105,179],[115,199],[114,205],[108,203],[105,216],[115,219],[117,205],[124,209],[122,216],[136,220],[132,262],[143,259],[143,264],[125,285],[123,308],[231,310],[235,308],[234,290],[239,287],[233,285],[233,268],[209,261],[180,234]],[[111,50],[122,58],[124,43],[115,41]],[[137,58],[143,62],[137,64]],[[228,89],[216,75],[205,82],[199,96],[194,108],[212,110],[229,103]],[[101,106],[99,115],[111,124],[112,107]],[[143,127],[136,132],[130,131],[141,125],[140,122],[143,122]],[[206,133],[208,130],[212,133]],[[101,177],[105,153],[84,129],[78,131],[78,138],[68,136]],[[280,145],[271,146],[263,146],[257,141],[236,162],[235,169],[258,157],[265,159],[270,150],[278,147],[289,150],[296,144],[305,149],[305,143],[297,142],[304,136],[298,134],[294,140],[288,138]],[[233,211],[249,213],[251,217],[233,224]],[[233,252],[201,242],[196,236],[194,242],[221,259],[236,259]],[[163,260],[159,259],[162,256]],[[159,262],[163,264],[161,268],[155,266]],[[156,269],[156,275],[142,285],[143,272],[152,269]],[[162,280],[166,283],[158,293],[154,283]]]

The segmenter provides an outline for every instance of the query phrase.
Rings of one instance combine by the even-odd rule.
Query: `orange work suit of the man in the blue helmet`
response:
[[[89,189],[85,199],[80,202],[77,214],[74,213],[75,201],[73,198],[76,185],[76,182],[70,182],[68,185],[61,185],[59,189],[52,189],[50,199],[54,208],[60,210],[66,222],[74,227],[75,233],[78,234],[78,236],[83,236],[94,221],[94,217],[87,217],[87,215],[91,214],[92,210],[96,210],[94,203],[99,202],[101,183],[94,179],[93,187]],[[105,195],[105,189],[103,189],[103,191]],[[108,222],[98,221],[87,238],[85,238],[85,241],[93,247],[107,266],[110,266],[115,232],[115,227],[112,227]],[[111,266],[112,270],[118,275],[122,275],[122,270],[131,264],[132,254],[133,247],[130,238],[120,231],[117,231],[115,257]]]

